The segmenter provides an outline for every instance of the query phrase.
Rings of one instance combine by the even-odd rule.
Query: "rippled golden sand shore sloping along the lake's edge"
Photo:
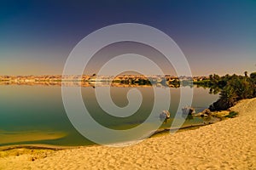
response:
[[[127,147],[2,151],[0,169],[256,169],[256,99],[231,111],[239,116]]]

